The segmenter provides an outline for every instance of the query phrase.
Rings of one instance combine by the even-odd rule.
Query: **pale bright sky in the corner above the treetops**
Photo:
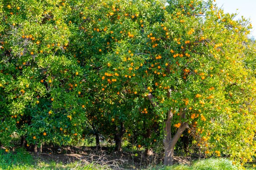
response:
[[[238,13],[236,19],[250,18],[253,26],[250,36],[256,38],[256,0],[216,0],[216,4],[225,13]]]

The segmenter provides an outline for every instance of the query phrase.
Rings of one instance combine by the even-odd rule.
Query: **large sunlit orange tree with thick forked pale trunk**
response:
[[[247,161],[255,151],[255,77],[245,63],[251,25],[212,1],[167,2],[119,0],[85,8],[80,29],[93,52],[90,64],[100,67],[99,90],[119,95],[128,87],[139,110],[130,122],[142,117],[136,99],[151,102],[150,114],[163,122],[165,165],[173,164],[187,128],[206,154]]]

